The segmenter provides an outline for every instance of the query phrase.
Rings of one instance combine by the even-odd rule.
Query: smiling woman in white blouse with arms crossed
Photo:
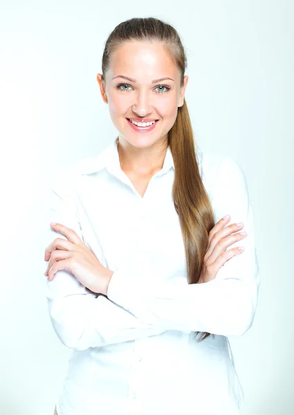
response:
[[[241,167],[194,143],[185,68],[172,26],[119,24],[98,74],[119,135],[50,183],[46,297],[73,349],[58,415],[230,415],[244,403],[228,336],[257,306],[252,208]]]

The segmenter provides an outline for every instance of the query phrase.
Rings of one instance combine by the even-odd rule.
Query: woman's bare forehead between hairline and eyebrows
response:
[[[178,68],[163,44],[157,42],[124,42],[111,55],[109,76],[126,75],[138,82],[156,77],[175,79]]]

